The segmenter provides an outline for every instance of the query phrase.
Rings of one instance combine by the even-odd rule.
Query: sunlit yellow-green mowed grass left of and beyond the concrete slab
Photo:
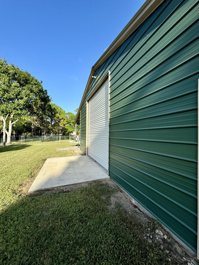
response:
[[[74,149],[58,151],[56,148],[69,147],[65,140],[56,142],[28,142],[0,147],[0,210],[18,198],[20,186],[35,178],[45,159],[76,155]]]

